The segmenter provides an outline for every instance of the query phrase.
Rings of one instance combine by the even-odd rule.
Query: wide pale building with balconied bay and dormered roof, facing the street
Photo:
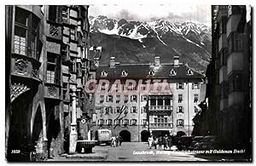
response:
[[[178,61],[119,64],[96,69],[96,114],[93,131],[111,129],[124,141],[147,141],[160,135],[192,135],[204,76]]]

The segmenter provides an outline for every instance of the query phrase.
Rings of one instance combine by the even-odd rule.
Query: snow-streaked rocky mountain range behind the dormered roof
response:
[[[205,70],[210,59],[212,30],[203,24],[113,20],[102,15],[89,19],[91,44],[105,46],[102,63],[108,63],[108,56],[125,63],[149,62],[155,54],[171,62],[179,54],[184,63]]]

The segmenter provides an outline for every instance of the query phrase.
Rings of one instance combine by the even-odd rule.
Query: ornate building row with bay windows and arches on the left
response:
[[[73,100],[78,122],[82,118],[90,122],[89,94],[84,91],[90,67],[88,8],[6,6],[9,161],[29,161],[32,151],[39,160],[68,152]],[[77,127],[79,131],[79,123]]]

